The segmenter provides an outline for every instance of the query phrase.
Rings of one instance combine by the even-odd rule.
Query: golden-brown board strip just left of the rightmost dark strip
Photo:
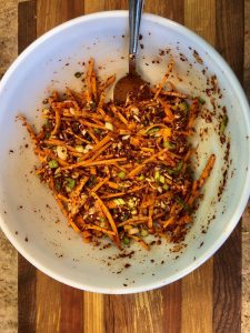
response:
[[[184,24],[214,46],[216,0],[184,0]],[[182,280],[182,333],[212,332],[212,284],[213,259]]]

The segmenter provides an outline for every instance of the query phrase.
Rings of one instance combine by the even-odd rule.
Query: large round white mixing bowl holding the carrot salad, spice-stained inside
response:
[[[112,73],[122,77],[127,71],[127,11],[84,16],[57,27],[32,43],[13,62],[0,83],[0,225],[17,250],[34,266],[58,281],[87,291],[113,294],[141,292],[184,276],[227,240],[249,198],[250,142],[247,137],[250,113],[236,75],[213,48],[180,24],[143,14],[141,33],[143,39],[140,43],[144,48],[139,52],[139,70],[146,79],[152,83],[160,80],[170,56],[160,57],[159,49],[170,48],[177,61],[176,73],[183,78],[180,82],[176,75],[172,79],[176,85],[181,91],[204,97],[206,75],[216,73],[223,94],[220,104],[228,109],[226,131],[231,138],[231,164],[220,201],[217,193],[222,180],[226,145],[220,145],[214,131],[214,125],[218,125],[216,119],[213,124],[202,120],[198,123],[198,128],[209,128],[207,139],[200,142],[198,149],[201,158],[198,173],[211,152],[217,154],[217,161],[204,186],[204,198],[194,224],[187,235],[187,248],[181,253],[171,252],[173,245],[162,242],[150,252],[133,245],[136,253],[131,259],[110,260],[108,256],[114,258],[119,250],[100,251],[84,244],[67,226],[49,190],[30,173],[37,158],[26,129],[14,121],[16,115],[22,113],[31,123],[39,125],[37,110],[42,108],[41,101],[51,89],[63,90],[66,84],[80,88],[80,80],[73,73],[82,70],[80,63],[89,57],[102,65],[100,77]],[[203,59],[203,65],[193,57],[193,49]],[[179,52],[188,58],[188,62],[180,60]],[[152,60],[159,63],[152,63]],[[206,74],[201,72],[203,67],[208,67]],[[187,68],[190,70],[188,75]],[[209,99],[207,102],[210,105]],[[213,214],[216,218],[210,221],[207,233],[202,233]],[[60,222],[56,223],[58,220]],[[131,266],[124,269],[126,263]]]

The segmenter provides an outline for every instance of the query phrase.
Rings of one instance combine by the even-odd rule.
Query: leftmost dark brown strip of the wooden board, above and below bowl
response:
[[[22,52],[37,36],[36,1],[19,3],[18,52]],[[18,332],[31,333],[36,326],[36,268],[18,255]]]

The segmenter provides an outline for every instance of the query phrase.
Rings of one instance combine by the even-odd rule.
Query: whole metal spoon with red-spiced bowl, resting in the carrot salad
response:
[[[128,93],[137,99],[147,99],[149,95],[148,83],[137,73],[136,65],[142,8],[143,0],[129,1],[129,73],[114,85],[113,99],[118,103],[126,102]]]

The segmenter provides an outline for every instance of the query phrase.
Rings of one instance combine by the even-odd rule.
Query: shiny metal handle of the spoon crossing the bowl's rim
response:
[[[143,0],[129,0],[129,72],[136,72],[136,56],[138,49],[139,30]]]

